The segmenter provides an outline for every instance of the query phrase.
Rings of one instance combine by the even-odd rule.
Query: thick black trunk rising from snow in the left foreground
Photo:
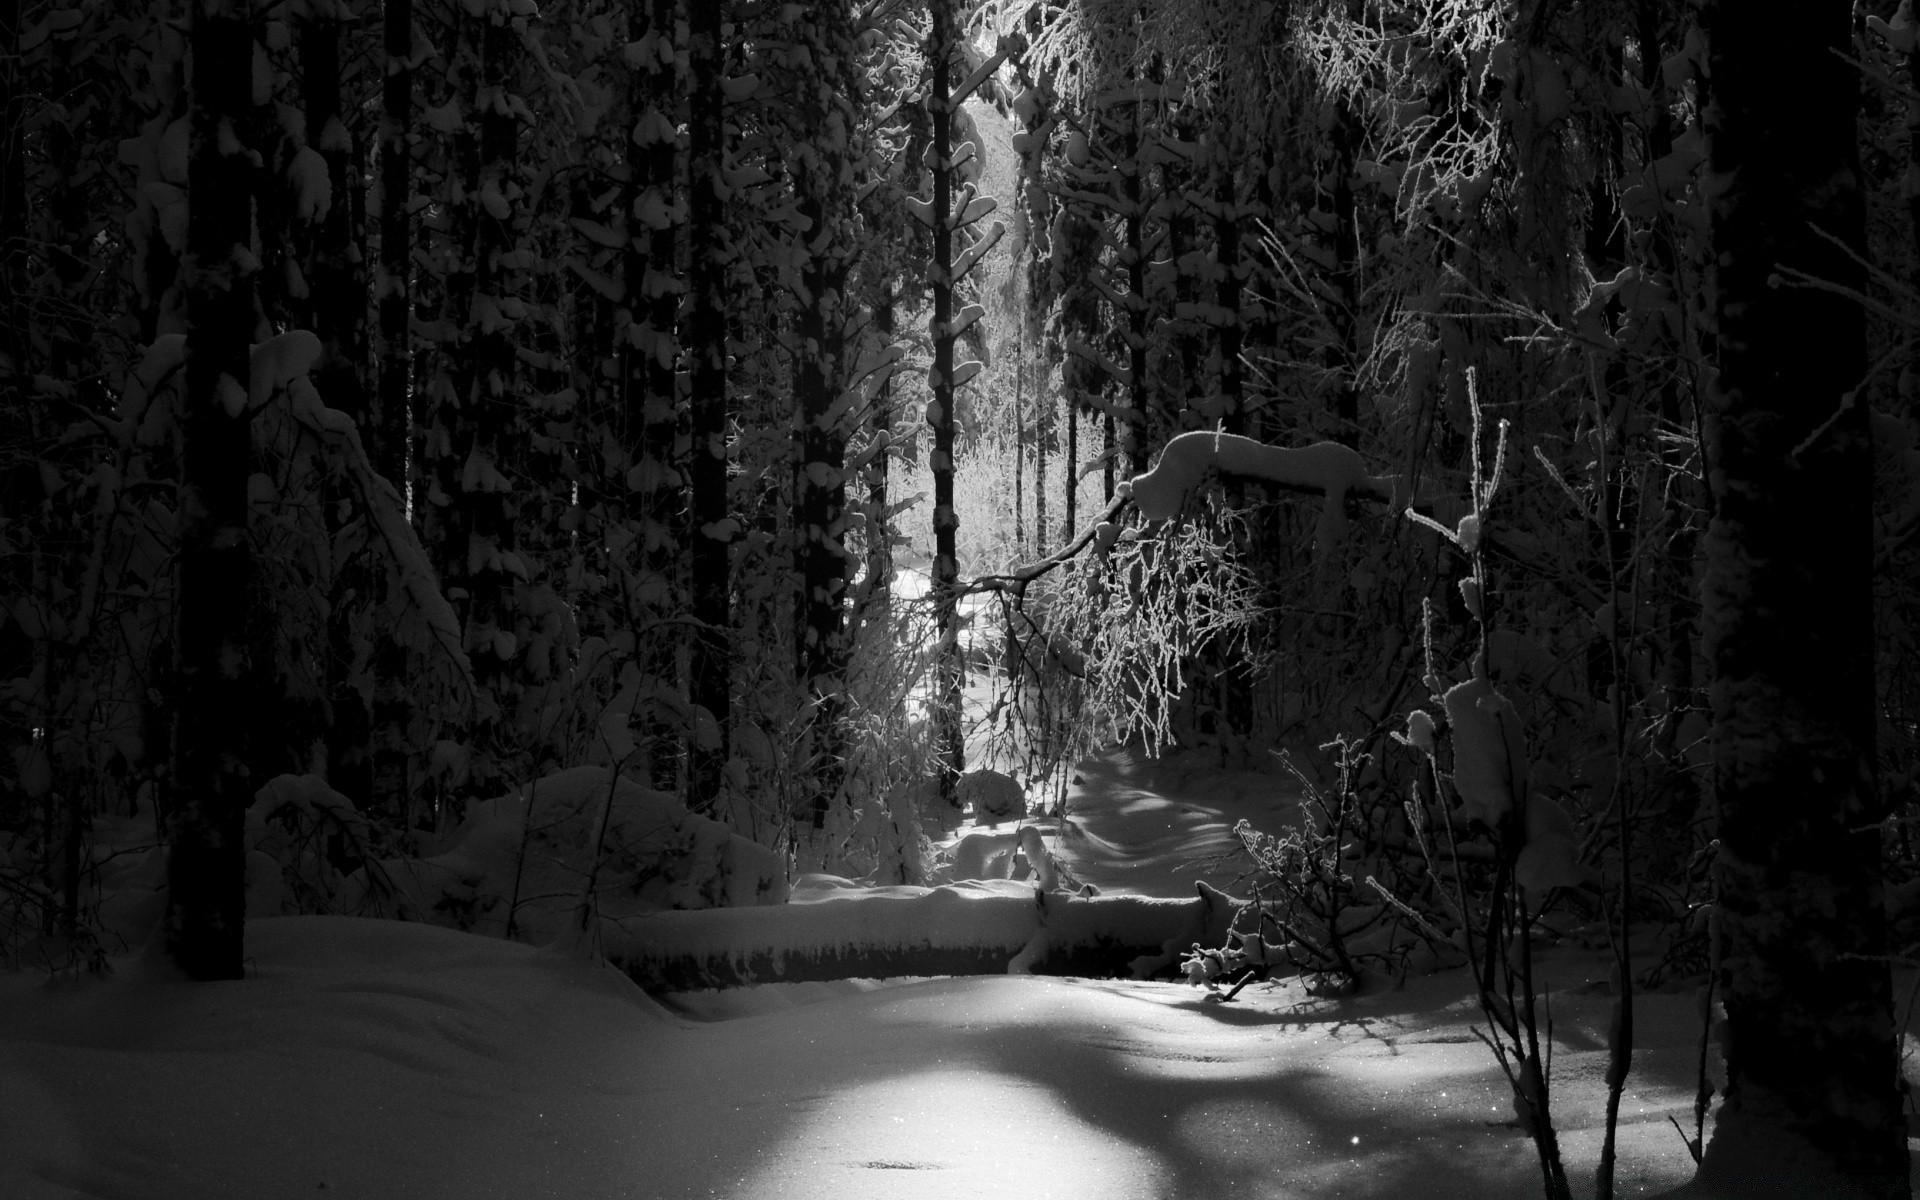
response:
[[[165,947],[194,979],[238,979],[242,829],[253,791],[246,755],[253,555],[244,382],[253,336],[253,169],[238,138],[253,104],[248,6],[196,4],[188,38],[186,428]]]

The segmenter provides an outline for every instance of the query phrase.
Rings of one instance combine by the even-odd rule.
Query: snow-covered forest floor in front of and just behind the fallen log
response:
[[[1261,781],[1265,780],[1265,781]],[[1060,845],[1187,895],[1277,780],[1091,760]],[[1212,866],[1210,866],[1210,860]],[[1173,889],[1164,891],[1164,889]],[[1461,972],[1354,998],[993,975],[649,998],[559,948],[353,918],[248,925],[244,983],[131,956],[0,975],[0,1196],[1534,1196]],[[1603,950],[1544,950],[1553,1114],[1599,1154]],[[1699,1014],[1647,995],[1620,1194],[1688,1177]]]

